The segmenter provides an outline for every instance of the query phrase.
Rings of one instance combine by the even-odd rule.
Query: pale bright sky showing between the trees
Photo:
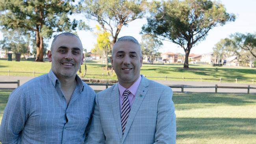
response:
[[[191,49],[190,54],[206,54],[213,52],[214,45],[221,39],[229,37],[231,34],[239,33],[256,33],[256,0],[219,0],[226,7],[228,13],[234,13],[236,15],[235,22],[227,22],[224,26],[217,26],[208,32],[208,35],[204,41],[198,42],[196,46]],[[82,15],[72,16],[76,19],[83,19]],[[124,35],[130,35],[135,37],[141,42],[141,27],[146,24],[146,18],[137,19],[130,23],[128,26],[123,26],[118,37]],[[87,23],[88,24],[88,23]],[[97,23],[94,21],[89,22],[89,26],[95,27]],[[83,48],[90,52],[96,44],[96,35],[94,31],[77,31],[80,37]],[[0,32],[0,40],[3,39],[2,33]],[[48,40],[48,50],[50,49],[52,39]],[[160,48],[160,52],[174,52],[185,54],[183,48],[169,41],[162,41],[163,46]]]

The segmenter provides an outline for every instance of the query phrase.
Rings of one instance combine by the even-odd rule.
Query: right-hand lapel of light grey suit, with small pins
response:
[[[141,103],[143,102],[145,95],[147,94],[148,87],[148,80],[142,76],[141,83],[139,84],[139,88],[135,95],[135,100],[132,103],[132,108],[128,116],[128,120],[125,126],[124,135],[122,137],[122,143],[124,142],[124,139],[126,138],[128,131],[132,125],[132,122],[135,118],[135,115],[137,114],[137,111],[139,110],[139,107],[141,106]]]

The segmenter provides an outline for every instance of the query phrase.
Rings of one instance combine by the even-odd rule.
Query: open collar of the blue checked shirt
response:
[[[54,72],[52,71],[52,69],[50,70],[50,72],[48,73],[48,78],[50,79],[50,81],[52,82],[52,84],[54,85],[54,87],[56,87],[57,84],[60,84],[59,79],[56,77],[56,75],[54,74]],[[83,91],[83,81],[82,79],[76,75],[76,83],[78,85],[78,89],[80,92]]]

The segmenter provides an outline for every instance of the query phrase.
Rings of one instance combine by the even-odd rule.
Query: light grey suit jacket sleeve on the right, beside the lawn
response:
[[[171,88],[163,89],[158,102],[154,144],[176,143],[176,116],[172,96]]]

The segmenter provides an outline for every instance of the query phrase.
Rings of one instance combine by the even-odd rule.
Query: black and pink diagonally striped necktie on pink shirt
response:
[[[128,120],[128,116],[130,113],[130,103],[128,99],[128,95],[130,94],[130,91],[126,89],[124,91],[124,99],[122,100],[122,109],[121,109],[121,124],[122,124],[122,134],[124,135],[124,129],[126,122]]]

